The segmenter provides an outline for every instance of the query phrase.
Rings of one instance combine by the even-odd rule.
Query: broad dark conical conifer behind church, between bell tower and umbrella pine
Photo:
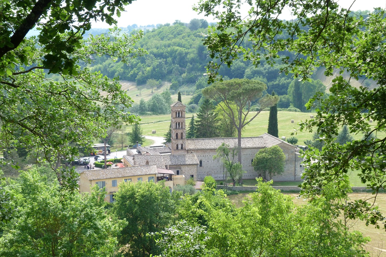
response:
[[[214,110],[213,103],[209,99],[205,99],[194,121],[196,138],[218,137],[218,118]]]

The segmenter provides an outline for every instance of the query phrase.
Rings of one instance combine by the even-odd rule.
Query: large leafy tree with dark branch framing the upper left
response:
[[[129,3],[131,0],[3,2],[2,19],[7,22],[0,33],[4,42],[0,46],[0,91],[7,93],[0,96],[2,149],[44,151],[58,181],[66,184],[76,180],[76,172],[58,167],[77,156],[78,145],[73,142],[90,145],[105,133],[105,125],[137,120],[127,112],[132,100],[117,79],[79,66],[93,63],[97,56],[129,63],[146,52],[134,47],[142,32],[129,36],[115,28],[83,39],[95,20],[116,24],[113,15],[119,15]],[[38,35],[27,37],[32,28]]]

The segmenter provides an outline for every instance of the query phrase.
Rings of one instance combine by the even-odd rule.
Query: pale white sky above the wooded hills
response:
[[[339,0],[342,7],[348,8],[354,0]],[[193,5],[198,0],[135,0],[126,6],[126,11],[121,17],[116,17],[118,27],[127,27],[127,25],[157,25],[173,24],[175,20],[188,23],[191,19],[205,19],[209,23],[215,22],[213,17],[205,17],[192,10]],[[384,0],[356,0],[352,10],[373,10],[374,7],[386,8]],[[289,16],[283,16],[281,19],[291,19]],[[97,22],[93,28],[107,28],[108,25]]]

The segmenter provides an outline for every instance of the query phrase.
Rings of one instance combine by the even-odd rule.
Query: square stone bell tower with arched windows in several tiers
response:
[[[186,106],[176,101],[171,106],[171,154],[186,154]]]

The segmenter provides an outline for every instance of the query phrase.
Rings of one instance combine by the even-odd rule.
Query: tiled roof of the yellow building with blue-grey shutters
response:
[[[146,165],[110,169],[92,169],[86,170],[83,173],[88,180],[98,180],[157,174],[157,168],[155,165]]]

